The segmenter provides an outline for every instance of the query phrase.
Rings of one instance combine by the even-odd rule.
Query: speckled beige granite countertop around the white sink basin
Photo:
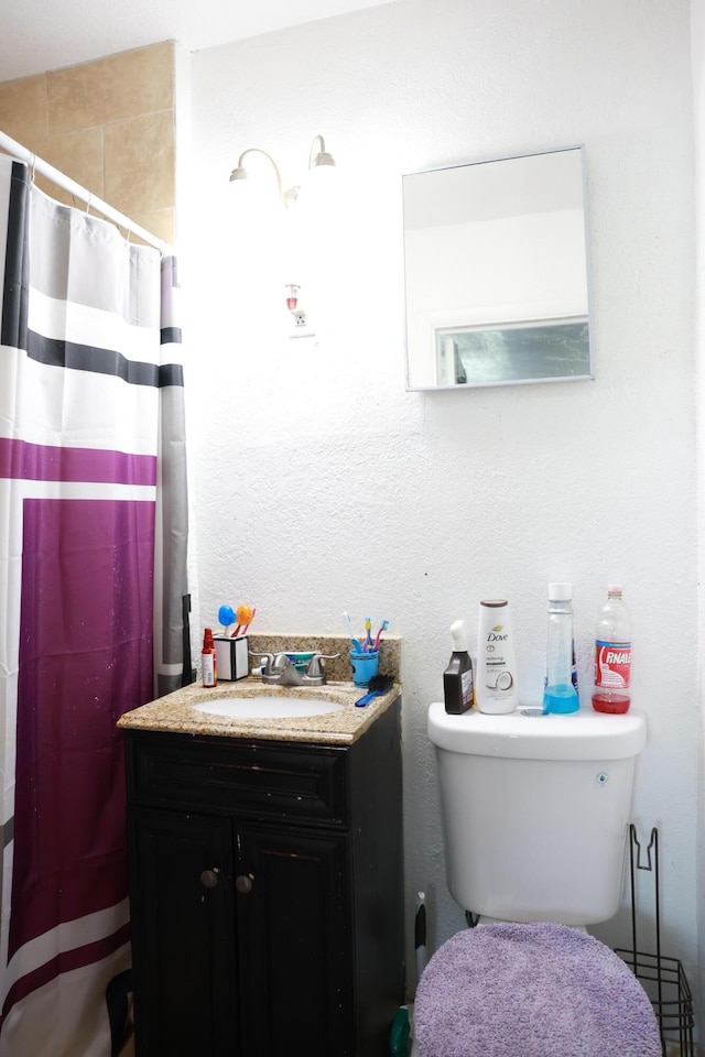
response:
[[[149,705],[126,712],[118,727],[123,730],[156,730],[182,734],[205,734],[218,738],[268,739],[274,741],[316,742],[350,745],[397,700],[399,684],[369,705],[357,708],[355,701],[365,689],[351,683],[328,682],[321,687],[265,686],[261,679],[248,677],[237,683],[220,683],[204,689],[194,683],[174,690]],[[345,708],[323,716],[299,716],[285,719],[241,719],[196,711],[192,705],[223,697],[319,697],[338,701]]]

